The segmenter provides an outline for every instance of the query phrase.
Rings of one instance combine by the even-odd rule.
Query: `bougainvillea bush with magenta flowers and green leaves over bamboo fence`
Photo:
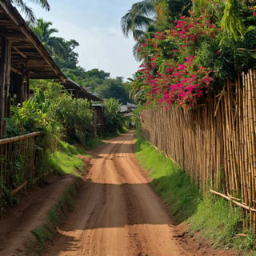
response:
[[[226,78],[254,65],[252,55],[239,51],[245,40],[224,38],[207,14],[182,16],[172,29],[155,33],[138,48],[138,79],[148,88],[146,104],[174,104],[186,110],[197,106],[206,94],[220,90]]]

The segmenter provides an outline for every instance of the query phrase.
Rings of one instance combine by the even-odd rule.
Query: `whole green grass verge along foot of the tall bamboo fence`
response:
[[[224,198],[210,193],[202,197],[198,185],[182,168],[159,153],[140,132],[134,137],[135,156],[149,172],[152,188],[170,206],[177,222],[188,224],[188,235],[197,233],[198,239],[215,247],[233,248],[242,255],[256,256],[256,234],[242,230],[239,207],[230,207]]]

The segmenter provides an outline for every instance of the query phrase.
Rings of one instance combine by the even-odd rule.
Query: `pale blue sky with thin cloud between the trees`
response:
[[[134,0],[48,0],[50,11],[27,2],[36,18],[52,22],[58,30],[54,36],[66,41],[74,39],[79,46],[78,65],[85,70],[98,68],[111,78],[132,78],[139,62],[134,59],[132,35],[125,38],[121,18],[130,10]]]

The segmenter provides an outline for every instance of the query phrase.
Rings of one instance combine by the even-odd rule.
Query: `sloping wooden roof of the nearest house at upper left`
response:
[[[23,66],[30,71],[30,78],[65,79],[18,10],[4,1],[0,1],[0,36],[11,42],[11,70],[14,72],[18,73]]]

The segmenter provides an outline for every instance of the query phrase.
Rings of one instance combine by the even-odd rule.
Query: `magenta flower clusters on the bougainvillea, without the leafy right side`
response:
[[[213,70],[197,62],[198,46],[214,38],[219,28],[206,16],[182,16],[174,29],[157,32],[147,39],[139,51],[139,70],[144,84],[150,88],[147,104],[170,104],[186,110],[196,106],[198,99],[212,90]],[[216,54],[219,54],[218,51]]]

